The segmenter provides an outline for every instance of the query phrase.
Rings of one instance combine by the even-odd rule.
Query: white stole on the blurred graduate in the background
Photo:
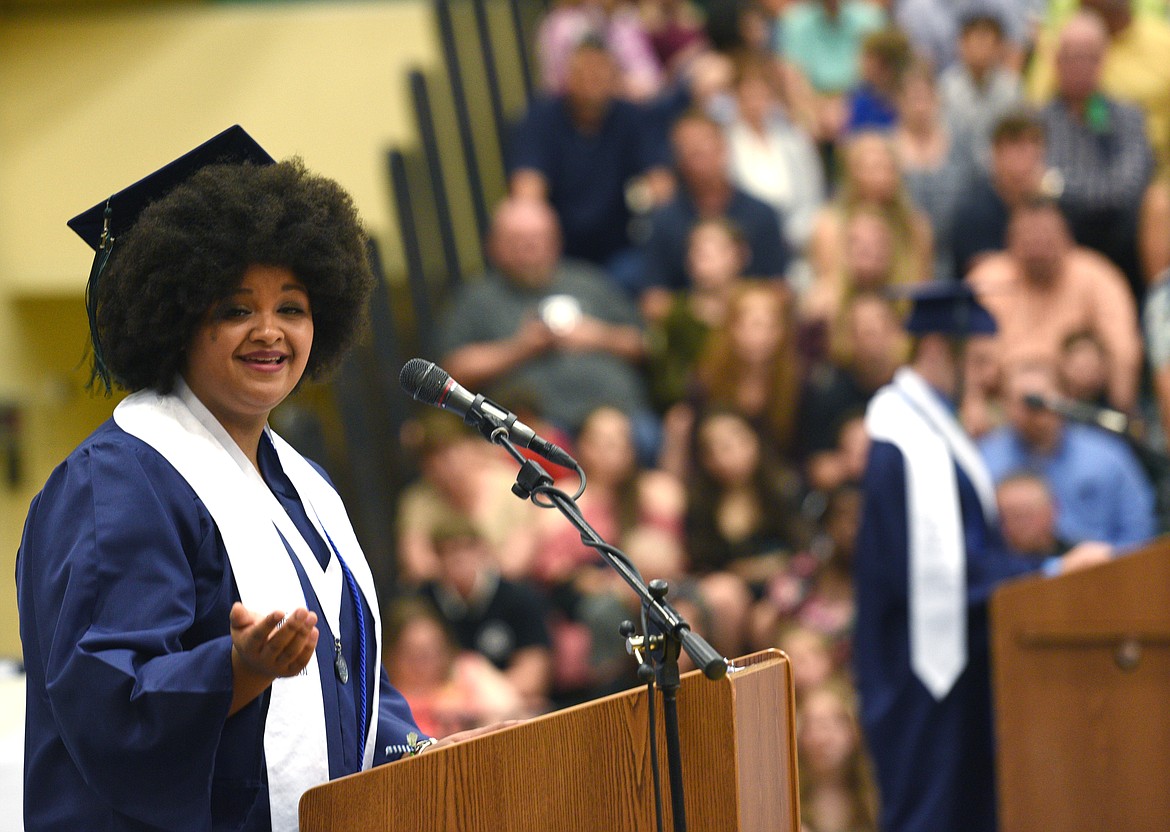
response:
[[[991,475],[937,393],[909,367],[869,403],[866,428],[906,460],[910,667],[941,700],[966,666],[966,551],[955,465],[994,523]]]

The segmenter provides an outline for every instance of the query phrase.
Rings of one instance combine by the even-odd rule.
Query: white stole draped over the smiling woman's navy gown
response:
[[[139,391],[128,397],[115,408],[113,420],[166,458],[207,507],[223,538],[245,606],[260,616],[274,610],[290,613],[307,606],[296,568],[281,541],[283,536],[308,575],[330,628],[340,635],[338,621],[346,587],[337,557],[330,557],[329,568],[322,569],[260,472],[181,378],[173,394]],[[266,432],[317,532],[337,546],[353,573],[374,623],[374,642],[369,654],[380,655],[381,616],[373,576],[340,497],[288,442],[269,428]],[[273,682],[264,724],[264,757],[274,832],[295,831],[301,795],[329,779],[322,672],[315,653],[301,674]],[[357,673],[353,680],[357,683]],[[374,679],[364,769],[373,763],[378,695]]]

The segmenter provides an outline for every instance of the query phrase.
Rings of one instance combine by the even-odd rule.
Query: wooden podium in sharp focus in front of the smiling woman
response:
[[[792,673],[764,651],[710,681],[682,678],[679,731],[687,827],[799,832]],[[659,717],[666,828],[669,773]],[[301,832],[649,832],[646,689],[536,717],[343,777],[301,798]]]

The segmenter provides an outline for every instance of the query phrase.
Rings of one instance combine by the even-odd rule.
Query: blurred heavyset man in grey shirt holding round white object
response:
[[[452,300],[440,328],[447,371],[472,389],[523,381],[541,391],[544,415],[569,431],[613,404],[635,419],[640,449],[653,453],[633,302],[597,267],[560,256],[557,218],[544,202],[502,202],[488,250],[493,268]]]

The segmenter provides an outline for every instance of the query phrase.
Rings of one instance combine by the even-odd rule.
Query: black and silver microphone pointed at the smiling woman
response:
[[[486,436],[496,427],[503,427],[508,438],[525,448],[541,454],[544,459],[565,468],[577,468],[577,460],[557,445],[544,439],[528,425],[516,418],[495,401],[476,396],[453,379],[442,367],[424,358],[412,358],[402,365],[398,383],[411,398],[425,405],[450,411],[463,418],[468,425],[488,429]]]

